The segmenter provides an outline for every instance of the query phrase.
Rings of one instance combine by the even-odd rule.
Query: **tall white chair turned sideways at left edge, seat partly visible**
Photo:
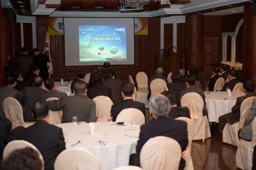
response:
[[[29,127],[35,122],[24,122],[22,107],[13,97],[6,97],[3,101],[4,115],[12,122],[12,129],[23,126]]]

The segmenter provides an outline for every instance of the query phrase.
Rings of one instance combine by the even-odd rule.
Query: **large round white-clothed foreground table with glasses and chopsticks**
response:
[[[84,148],[92,152],[100,162],[101,170],[111,170],[120,166],[129,165],[129,156],[135,153],[140,126],[131,130],[131,125],[109,125],[108,122],[96,122],[95,134],[90,134],[90,126],[86,122],[79,125],[73,123],[59,124],[63,129],[66,148]],[[129,138],[125,138],[125,134]],[[104,141],[106,146],[100,145],[99,140]],[[71,146],[81,141],[75,146]]]

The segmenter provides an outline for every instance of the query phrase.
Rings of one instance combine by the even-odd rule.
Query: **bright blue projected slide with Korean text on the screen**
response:
[[[79,25],[79,61],[127,60],[125,25]]]

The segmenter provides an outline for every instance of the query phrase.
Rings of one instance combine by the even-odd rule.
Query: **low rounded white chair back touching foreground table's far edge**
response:
[[[143,125],[145,124],[145,116],[138,109],[127,108],[118,114],[116,117],[116,122],[124,122],[125,124],[135,122],[137,125]]]

